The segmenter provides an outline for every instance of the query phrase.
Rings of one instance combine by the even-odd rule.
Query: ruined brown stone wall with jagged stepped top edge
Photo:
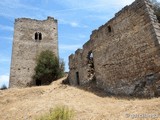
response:
[[[160,96],[160,24],[148,0],[136,0],[94,30],[69,56],[69,82],[133,96]]]

